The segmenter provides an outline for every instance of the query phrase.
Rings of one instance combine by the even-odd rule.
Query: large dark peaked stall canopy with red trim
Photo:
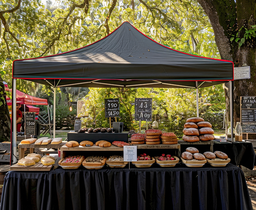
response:
[[[233,80],[233,63],[168,48],[124,22],[83,48],[15,60],[13,78],[53,87],[196,88]]]

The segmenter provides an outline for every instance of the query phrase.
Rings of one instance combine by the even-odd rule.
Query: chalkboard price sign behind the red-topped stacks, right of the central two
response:
[[[135,120],[152,121],[152,98],[135,98]]]

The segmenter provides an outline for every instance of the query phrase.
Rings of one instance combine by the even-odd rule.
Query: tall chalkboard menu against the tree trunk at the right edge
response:
[[[256,96],[241,96],[240,104],[242,132],[256,133]]]

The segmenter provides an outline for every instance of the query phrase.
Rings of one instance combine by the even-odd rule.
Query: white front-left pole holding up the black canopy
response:
[[[12,148],[13,148],[13,162],[15,163],[17,161],[17,125],[16,125],[16,117],[17,117],[17,111],[16,111],[16,79],[13,79],[12,84]]]

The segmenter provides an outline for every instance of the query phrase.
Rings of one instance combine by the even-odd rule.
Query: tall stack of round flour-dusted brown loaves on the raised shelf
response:
[[[188,118],[184,124],[183,133],[182,139],[188,142],[210,141],[215,138],[212,125],[201,117]]]

